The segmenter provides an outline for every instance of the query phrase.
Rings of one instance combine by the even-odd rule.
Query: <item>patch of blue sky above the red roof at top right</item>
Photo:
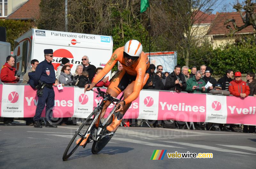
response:
[[[236,12],[235,9],[233,9],[233,4],[237,0],[217,0],[216,4],[213,8],[213,14],[216,14],[216,12]],[[238,0],[240,3],[244,2],[245,0]]]

